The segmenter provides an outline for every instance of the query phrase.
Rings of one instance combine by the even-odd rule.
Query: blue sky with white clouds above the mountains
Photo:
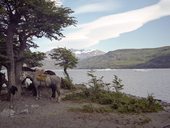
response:
[[[56,0],[71,8],[76,26],[60,41],[35,39],[37,51],[53,48],[98,49],[170,46],[170,0]]]

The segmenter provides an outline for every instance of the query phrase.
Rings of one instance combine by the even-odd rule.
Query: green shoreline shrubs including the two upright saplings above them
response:
[[[63,100],[89,103],[82,108],[72,108],[73,111],[146,113],[163,110],[162,104],[152,95],[148,95],[147,98],[139,98],[122,93],[124,85],[116,75],[114,75],[112,83],[104,83],[103,77],[97,78],[94,71],[89,71],[88,76],[91,79],[87,85],[79,85],[78,89],[63,98]],[[102,106],[96,107],[93,103]]]

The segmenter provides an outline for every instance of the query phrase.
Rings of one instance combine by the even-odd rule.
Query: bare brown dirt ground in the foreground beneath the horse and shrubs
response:
[[[64,95],[64,93],[62,93]],[[10,103],[0,101],[0,128],[170,128],[170,107],[146,114],[82,113],[70,108],[84,103],[51,101],[47,95],[35,100],[30,95]]]

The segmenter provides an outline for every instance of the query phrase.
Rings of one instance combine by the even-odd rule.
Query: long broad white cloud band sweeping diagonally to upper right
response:
[[[104,16],[91,23],[79,25],[73,33],[69,33],[66,38],[55,44],[68,48],[86,48],[102,40],[134,31],[152,20],[168,16],[169,7],[170,0],[161,0],[155,5],[142,9]]]

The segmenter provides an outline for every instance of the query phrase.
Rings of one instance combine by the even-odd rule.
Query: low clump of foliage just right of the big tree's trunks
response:
[[[25,53],[25,59],[24,59],[24,63],[28,65],[28,67],[36,67],[42,66],[42,63],[40,63],[41,60],[43,60],[45,58],[45,53],[43,52],[31,52],[31,51],[27,51]]]

